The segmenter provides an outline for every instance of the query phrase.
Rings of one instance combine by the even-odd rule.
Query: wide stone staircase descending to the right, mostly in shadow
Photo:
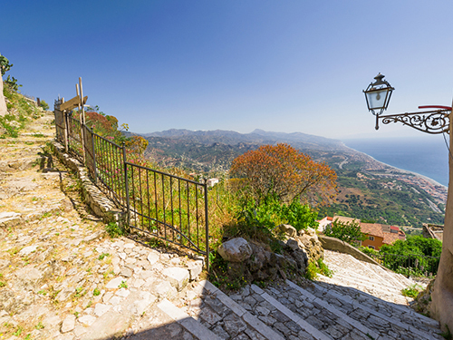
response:
[[[325,262],[333,277],[306,287],[285,280],[227,296],[204,280],[156,307],[169,317],[167,327],[188,332],[181,339],[443,339],[439,323],[401,295],[410,279],[346,254],[326,251]]]

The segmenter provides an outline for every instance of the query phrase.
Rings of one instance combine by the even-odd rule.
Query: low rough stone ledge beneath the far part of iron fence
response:
[[[85,166],[79,161],[71,157],[64,151],[64,147],[58,141],[53,141],[53,153],[63,162],[68,168],[77,173],[77,177],[82,181],[82,197],[92,209],[93,213],[102,219],[105,223],[114,222],[120,227],[126,227],[127,213],[122,209],[118,209],[113,201],[109,199],[88,176],[88,171]]]

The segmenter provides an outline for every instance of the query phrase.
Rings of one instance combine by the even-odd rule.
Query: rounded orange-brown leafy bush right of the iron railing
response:
[[[230,173],[245,179],[246,190],[257,202],[275,197],[323,204],[336,195],[335,171],[284,143],[247,151],[233,160]]]

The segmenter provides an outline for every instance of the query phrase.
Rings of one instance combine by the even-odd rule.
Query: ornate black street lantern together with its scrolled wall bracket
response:
[[[383,80],[384,75],[379,73],[374,77],[376,82],[370,83],[365,93],[368,110],[376,116],[376,130],[379,129],[379,120],[382,123],[400,121],[413,129],[427,133],[449,133],[449,106],[419,106],[419,109],[438,109],[424,112],[405,112],[397,114],[381,115],[389,106],[391,92],[395,90],[390,83]]]

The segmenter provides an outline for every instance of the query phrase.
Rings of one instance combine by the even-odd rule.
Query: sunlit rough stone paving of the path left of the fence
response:
[[[160,300],[191,287],[204,259],[110,238],[80,180],[45,148],[52,119],[0,140],[0,339],[132,335]]]

